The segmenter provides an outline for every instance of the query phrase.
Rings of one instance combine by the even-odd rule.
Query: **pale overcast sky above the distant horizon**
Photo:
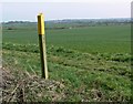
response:
[[[3,2],[4,1],[4,2]],[[95,18],[130,18],[131,0],[73,0],[73,2],[61,2],[49,0],[49,2],[33,2],[20,0],[2,0],[2,20],[28,20],[37,21],[39,12],[44,13],[45,20],[57,19],[95,19]],[[38,0],[39,1],[39,0]],[[44,0],[43,0],[44,1]],[[57,1],[57,2],[55,2]],[[101,2],[100,2],[101,1]],[[1,8],[1,4],[0,4]]]

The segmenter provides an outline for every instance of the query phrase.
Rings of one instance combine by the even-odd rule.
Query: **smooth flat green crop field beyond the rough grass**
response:
[[[8,28],[9,25],[4,27]],[[32,27],[25,25],[25,29],[23,29],[14,25],[14,30],[3,28],[3,42],[37,44],[37,27]],[[47,45],[63,46],[89,53],[129,53],[131,51],[130,32],[130,25],[88,27],[45,31]]]

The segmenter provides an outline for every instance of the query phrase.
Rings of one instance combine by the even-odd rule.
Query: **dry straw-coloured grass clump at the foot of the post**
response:
[[[64,85],[60,82],[41,79],[37,73],[31,74],[28,71],[6,67],[0,70],[3,102],[48,102],[64,97]]]

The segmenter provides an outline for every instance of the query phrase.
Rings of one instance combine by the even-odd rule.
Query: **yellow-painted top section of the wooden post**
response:
[[[44,34],[44,17],[42,13],[38,15],[38,33]]]

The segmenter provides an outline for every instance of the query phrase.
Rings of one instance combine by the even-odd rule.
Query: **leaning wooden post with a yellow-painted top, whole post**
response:
[[[38,33],[39,33],[42,77],[48,79],[44,18],[42,13],[38,15]]]

